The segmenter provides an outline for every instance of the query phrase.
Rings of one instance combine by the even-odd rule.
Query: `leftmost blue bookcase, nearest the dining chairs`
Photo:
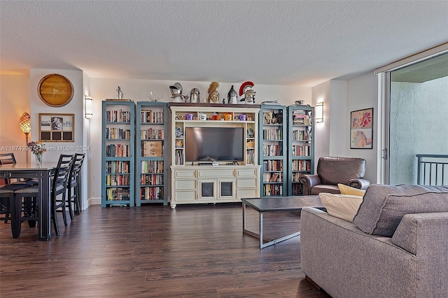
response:
[[[102,102],[102,206],[134,206],[135,104]]]

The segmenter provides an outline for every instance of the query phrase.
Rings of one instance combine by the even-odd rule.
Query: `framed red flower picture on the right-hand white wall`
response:
[[[351,112],[350,149],[373,149],[373,108]]]

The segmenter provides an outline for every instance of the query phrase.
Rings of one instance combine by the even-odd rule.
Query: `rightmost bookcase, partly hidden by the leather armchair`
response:
[[[314,108],[288,106],[288,195],[301,195],[300,176],[314,173]]]

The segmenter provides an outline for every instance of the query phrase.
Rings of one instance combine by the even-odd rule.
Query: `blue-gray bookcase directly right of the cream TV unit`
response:
[[[285,196],[286,177],[286,106],[262,104],[259,114],[260,195]]]

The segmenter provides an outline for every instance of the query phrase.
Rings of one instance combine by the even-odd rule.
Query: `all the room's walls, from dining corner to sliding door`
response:
[[[73,83],[75,95],[70,104],[53,108],[43,104],[36,92],[38,81],[48,73],[61,73]],[[162,101],[171,101],[169,85],[176,82],[165,80],[123,80],[112,78],[89,78],[82,71],[62,71],[51,69],[31,69],[30,73],[20,76],[1,76],[0,101],[0,144],[18,146],[25,143],[25,136],[20,131],[18,119],[23,112],[31,114],[33,129],[31,138],[37,137],[38,113],[74,113],[75,114],[75,140],[73,146],[87,146],[87,160],[85,174],[85,201],[84,207],[89,204],[101,204],[101,102],[106,98],[116,98],[118,85],[123,90],[125,99],[146,101],[148,93],[162,94]],[[183,86],[183,94],[189,94],[194,87],[200,89],[201,98],[207,96],[210,82],[179,81]],[[230,87],[234,85],[239,90],[240,83],[221,83],[218,91],[221,99],[227,99]],[[350,111],[361,108],[374,107],[374,122],[378,119],[377,104],[377,77],[367,73],[352,80],[330,80],[312,89],[309,87],[256,85],[253,89],[255,104],[261,101],[278,100],[279,104],[291,105],[295,100],[303,99],[305,104],[314,106],[316,102],[324,102],[324,122],[316,125],[316,159],[323,155],[339,155],[363,157],[367,159],[367,173],[365,178],[373,183],[377,181],[377,142],[374,149],[350,149],[349,144],[349,116]],[[84,118],[84,95],[90,94],[93,98],[93,117]],[[17,123],[17,125],[11,125]],[[375,123],[374,123],[375,125]],[[19,138],[17,136],[20,136]],[[23,140],[22,140],[23,139]],[[377,129],[374,129],[374,140],[377,139]],[[9,145],[10,144],[10,145]],[[52,143],[49,146],[66,145],[67,143]],[[44,160],[57,159],[56,155],[44,155]],[[68,152],[71,154],[71,152]],[[20,154],[18,155],[20,156]],[[25,156],[25,155],[24,155]],[[59,156],[59,155],[57,155]],[[25,157],[24,157],[25,158]],[[32,158],[32,157],[31,157]]]

